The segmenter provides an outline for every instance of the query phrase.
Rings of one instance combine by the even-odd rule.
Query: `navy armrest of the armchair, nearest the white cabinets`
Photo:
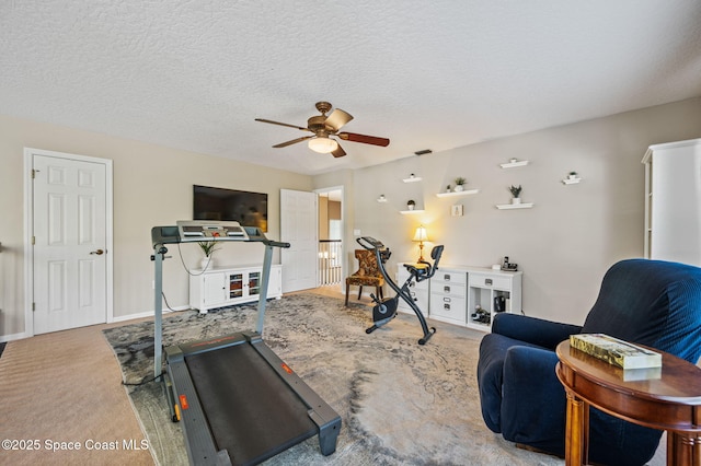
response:
[[[579,334],[582,326],[561,324],[520,314],[499,313],[494,316],[492,333],[554,350],[558,343]]]

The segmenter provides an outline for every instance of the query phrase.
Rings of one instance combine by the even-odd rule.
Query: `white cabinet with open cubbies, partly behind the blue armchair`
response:
[[[467,326],[490,331],[494,315],[521,312],[522,272],[471,268],[468,271]]]

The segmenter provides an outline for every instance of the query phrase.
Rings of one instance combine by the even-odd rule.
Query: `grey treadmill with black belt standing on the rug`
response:
[[[154,261],[153,375],[163,375],[174,422],[181,421],[193,465],[253,465],[319,435],[323,455],[336,450],[341,417],[262,338],[275,247],[238,222],[179,221],[151,229]],[[165,348],[162,373],[162,286],[166,244],[197,241],[257,242],[265,246],[257,326],[207,340]]]

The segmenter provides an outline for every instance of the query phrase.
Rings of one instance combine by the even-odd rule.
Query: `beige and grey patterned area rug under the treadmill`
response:
[[[368,306],[291,294],[267,305],[263,338],[342,417],[336,452],[323,456],[314,436],[268,459],[269,465],[562,465],[517,448],[492,433],[480,415],[475,368],[482,334],[432,323],[437,334],[417,345],[421,327],[400,314],[371,335]],[[163,319],[163,345],[255,328],[256,306]],[[104,330],[126,383],[153,373],[153,324]],[[179,423],[170,421],[161,385],[128,386],[157,462],[186,465]]]

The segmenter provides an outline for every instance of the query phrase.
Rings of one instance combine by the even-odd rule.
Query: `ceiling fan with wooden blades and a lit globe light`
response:
[[[255,120],[313,132],[313,136],[302,136],[301,138],[292,139],[291,141],[280,142],[279,144],[273,145],[274,148],[285,148],[287,145],[296,144],[297,142],[309,140],[309,149],[312,151],[331,153],[333,156],[340,158],[344,156],[346,151],[344,151],[341,144],[338,144],[338,141],[332,139],[331,136],[335,136],[344,141],[361,142],[364,144],[382,147],[389,145],[390,140],[387,138],[357,135],[355,132],[338,132],[346,123],[353,119],[353,115],[342,110],[341,108],[334,108],[331,115],[326,116],[331,108],[332,105],[329,102],[317,102],[317,109],[321,112],[321,115],[310,117],[307,120],[306,128],[303,126],[288,125],[286,123],[273,121],[264,118],[256,118]]]

